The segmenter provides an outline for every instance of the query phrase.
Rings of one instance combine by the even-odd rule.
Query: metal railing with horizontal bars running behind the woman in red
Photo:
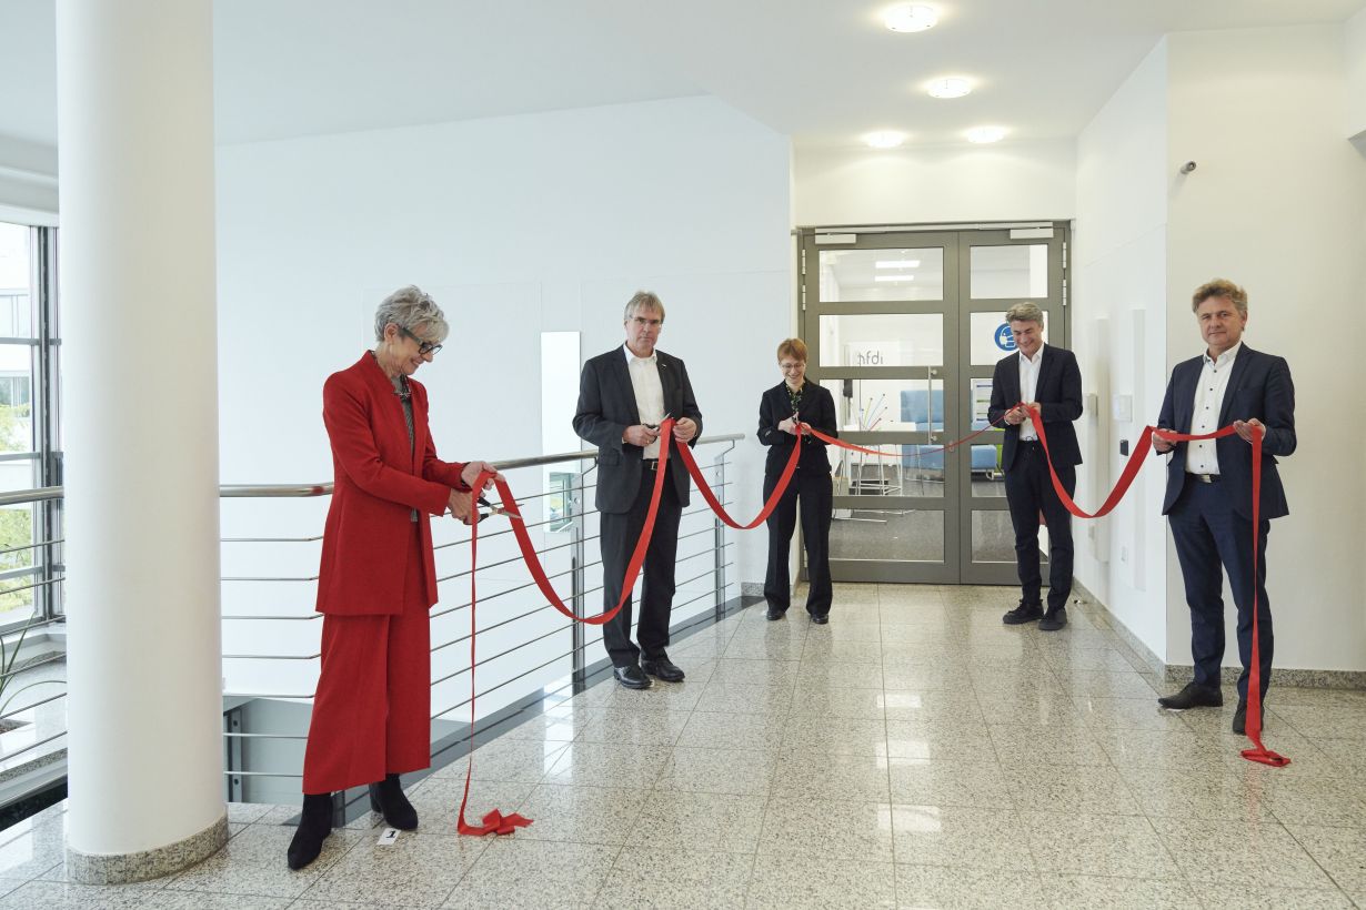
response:
[[[710,437],[699,441],[699,446],[709,446],[717,443],[728,443],[717,456],[713,464],[705,465],[703,471],[709,473],[709,484],[717,491],[717,495],[725,501],[727,493],[729,490],[729,483],[725,479],[725,460],[729,452],[735,449],[735,442],[743,439],[743,434],[729,434],[720,437]],[[537,456],[531,458],[515,458],[510,461],[500,461],[496,464],[499,471],[512,472],[526,468],[548,468],[555,465],[581,465],[582,463],[593,463],[597,458],[596,450],[582,450],[582,452],[567,452],[560,454]],[[596,488],[596,483],[591,482],[591,472],[596,464],[589,464],[585,469],[575,468],[572,471],[572,478],[570,483],[564,486],[556,486],[553,488],[538,490],[520,497],[518,501],[519,509],[522,512],[523,523],[527,531],[533,533],[544,535],[560,535],[564,533],[566,539],[548,539],[537,547],[535,553],[538,558],[546,558],[552,561],[568,559],[568,568],[546,565],[546,576],[552,583],[566,584],[571,588],[571,593],[564,596],[564,602],[570,604],[575,613],[579,615],[593,614],[596,610],[587,606],[587,599],[591,595],[600,595],[602,591],[602,584],[591,584],[586,577],[589,572],[597,572],[601,569],[600,558],[589,558],[586,553],[587,544],[598,539],[597,533],[591,533],[587,527],[587,520],[594,514],[594,510],[586,508],[585,501],[587,494]],[[7,494],[0,494],[0,506],[18,506],[25,503],[34,503],[51,499],[63,498],[61,487],[44,487],[37,490],[20,490]],[[224,484],[220,487],[220,497],[225,501],[240,501],[240,499],[317,499],[328,497],[332,494],[331,483],[305,483],[305,484]],[[557,498],[557,499],[556,499]],[[556,514],[552,510],[552,505],[560,508],[560,513]],[[548,517],[541,518],[531,514],[531,510],[545,508]],[[694,503],[693,508],[684,509],[680,514],[680,525],[687,521],[703,520],[709,509],[705,503]],[[484,518],[479,524],[479,543],[485,547],[489,546],[503,546],[503,540],[507,540],[512,535],[511,527],[500,527],[497,520],[490,516]],[[728,551],[734,546],[731,542],[725,540],[725,528],[717,518],[712,518],[706,527],[698,529],[684,529],[679,533],[679,544],[686,544],[687,542],[702,543],[703,538],[710,535],[709,546],[698,548],[694,553],[680,553],[678,557],[678,565],[680,569],[686,563],[695,563],[706,557],[710,557],[710,565],[708,565],[702,572],[690,573],[690,577],[678,581],[678,588],[680,595],[693,593],[686,591],[686,588],[694,583],[706,580],[710,577],[712,584],[705,591],[699,593],[693,593],[687,599],[675,604],[675,611],[684,611],[690,606],[694,606],[708,598],[713,600],[713,606],[720,608],[725,603],[725,589],[727,589],[727,572],[734,566],[734,561],[728,558]],[[270,547],[287,547],[288,544],[316,544],[322,540],[322,535],[261,535],[261,536],[223,536],[221,543],[227,544],[269,544]],[[48,585],[59,585],[64,578],[64,566],[61,561],[53,557],[56,547],[60,547],[66,540],[60,536],[53,536],[49,540],[40,540],[36,543],[26,543],[19,546],[12,546],[5,550],[0,550],[0,557],[7,554],[18,554],[27,551],[44,551],[49,554],[51,565],[33,565],[33,566],[14,566],[10,569],[0,570],[0,593],[14,593],[27,589],[44,588]],[[438,558],[448,558],[448,554],[458,554],[460,548],[470,543],[469,536],[463,536],[455,540],[445,540],[436,543],[433,550],[438,554]],[[280,558],[281,555],[288,559],[288,554],[295,553],[294,550],[272,550],[270,555]],[[299,551],[306,553],[306,551]],[[37,559],[36,559],[37,561]],[[478,566],[478,578],[485,578],[496,574],[507,574],[507,572],[515,572],[516,563],[522,562],[522,557],[518,553],[511,555],[503,555],[493,553],[490,558]],[[60,568],[61,573],[53,569]],[[469,578],[470,569],[455,569],[455,566],[448,566],[448,572],[438,574],[440,583],[458,581],[460,578]],[[5,584],[7,581],[19,581],[23,578],[37,578],[31,583],[15,585]],[[296,585],[306,583],[317,583],[317,574],[291,574],[291,573],[250,573],[250,574],[224,574],[221,583],[224,587],[224,593],[229,592],[229,587],[249,584],[253,591],[257,585],[270,587],[270,585],[285,585],[285,588],[298,591]],[[505,581],[505,578],[503,578]],[[488,581],[481,581],[481,585],[489,584]],[[280,588],[284,591],[285,588]],[[600,648],[601,643],[594,640],[587,640],[587,630],[579,623],[572,623],[568,619],[556,623],[553,628],[546,628],[544,623],[553,621],[557,614],[555,607],[545,602],[545,599],[535,589],[537,585],[533,580],[512,584],[511,587],[493,587],[486,593],[481,592],[479,606],[492,607],[494,610],[507,608],[514,615],[497,617],[494,622],[489,625],[482,625],[478,632],[482,634],[497,634],[500,636],[497,644],[490,645],[488,654],[481,654],[478,659],[477,669],[481,679],[481,688],[477,690],[477,697],[484,699],[493,696],[496,693],[507,690],[510,686],[516,685],[522,681],[529,681],[529,677],[534,674],[546,671],[556,664],[561,664],[566,670],[564,674],[556,674],[557,679],[572,678],[575,681],[582,681],[585,678],[585,669],[589,663],[586,652],[590,648]],[[250,595],[254,603],[261,603],[257,595]],[[228,598],[225,596],[224,600]],[[449,596],[445,598],[449,600]],[[520,604],[518,600],[530,600],[530,604]],[[298,596],[291,595],[284,600],[298,603]],[[507,607],[503,606],[508,602]],[[534,604],[534,606],[533,606]],[[433,621],[433,629],[438,621],[449,622],[455,619],[459,622],[459,615],[469,614],[471,603],[469,596],[452,606],[438,606],[430,613]],[[223,621],[227,623],[224,633],[229,632],[229,626],[238,623],[283,623],[276,628],[284,629],[303,629],[306,626],[298,626],[301,622],[313,622],[321,619],[321,614],[311,610],[311,603],[307,608],[281,608],[280,613],[236,613],[224,611]],[[26,629],[34,629],[40,626],[48,626],[52,623],[64,622],[64,615],[52,615],[48,618],[40,618],[26,623]],[[292,625],[290,625],[292,623]],[[516,636],[515,630],[518,623],[530,623],[529,629]],[[313,626],[311,629],[318,629]],[[320,658],[320,651],[317,645],[316,636],[318,632],[309,632],[307,636],[311,639],[311,647],[303,647],[301,649],[280,651],[281,634],[272,633],[253,633],[249,639],[243,639],[249,647],[235,647],[225,648],[223,652],[223,659],[231,662],[229,666],[247,664],[247,666],[298,666],[305,664],[316,667],[314,662]],[[553,647],[553,640],[557,636],[564,636],[567,639],[566,647],[553,648],[553,652],[546,652],[545,645]],[[16,633],[11,637],[16,637]],[[284,634],[283,640],[288,640],[291,636]],[[433,643],[430,651],[433,655],[433,670],[436,671],[436,663],[443,663],[444,669],[437,671],[436,678],[432,681],[433,697],[438,688],[444,688],[460,678],[469,678],[469,674],[475,667],[470,667],[467,660],[463,660],[463,666],[449,666],[451,660],[459,656],[455,651],[458,645],[470,644],[473,633],[469,626],[459,632],[444,630],[440,640],[433,636]],[[255,644],[262,643],[264,647],[257,648]],[[540,645],[540,647],[538,647]],[[449,655],[449,658],[447,656]],[[493,664],[494,662],[507,663],[507,659],[516,658],[522,655],[523,660],[531,666],[522,666],[520,663],[512,667],[514,673],[501,671],[493,673],[486,664]],[[29,663],[15,662],[12,669],[0,673],[0,681],[8,681],[11,677],[20,677],[16,684],[26,682],[22,674],[38,670],[49,664],[64,663],[66,655],[63,652],[53,655],[44,655]],[[501,666],[501,664],[500,664]],[[225,670],[227,673],[227,670]],[[316,682],[316,669],[309,670]],[[488,675],[485,675],[488,674]],[[250,675],[250,674],[249,674]],[[247,780],[265,780],[265,779],[298,779],[301,769],[298,767],[291,769],[262,769],[255,767],[257,763],[253,760],[251,752],[255,746],[250,744],[268,745],[270,742],[292,742],[298,746],[299,742],[306,739],[306,734],[302,731],[294,733],[279,733],[269,730],[245,730],[243,726],[243,709],[246,705],[253,703],[276,703],[276,704],[290,704],[290,703],[309,703],[313,699],[311,684],[307,690],[303,686],[295,688],[294,685],[279,686],[269,685],[272,677],[277,674],[258,673],[253,677],[254,682],[266,682],[268,685],[245,685],[235,686],[229,677],[224,678],[224,742],[225,742],[225,757],[227,769],[225,775],[228,779],[228,797],[232,799],[249,798]],[[484,681],[488,682],[484,682]],[[280,681],[280,679],[277,679]],[[38,684],[60,684],[60,679],[41,679]],[[466,684],[467,685],[467,684]],[[34,701],[29,701],[19,708],[15,708],[8,715],[0,716],[4,720],[10,715],[19,714],[22,711],[31,711],[42,705],[52,704],[66,697],[66,692],[56,694],[46,694]],[[449,704],[449,697],[443,699],[443,703],[449,707],[440,707],[440,709],[433,711],[432,720],[443,722],[449,724],[451,722],[443,720],[444,718],[455,714],[456,711],[469,709],[471,699],[469,694],[463,696],[462,700]],[[4,761],[30,753],[41,746],[49,745],[64,737],[64,731],[46,735],[42,739],[25,744],[22,748],[5,754],[0,754],[0,764]],[[249,748],[250,746],[250,748]],[[302,759],[302,753],[299,756]]]

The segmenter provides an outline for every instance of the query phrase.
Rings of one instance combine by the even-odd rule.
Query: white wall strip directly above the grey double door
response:
[[[1075,214],[1071,141],[798,149],[799,225],[1053,221]]]

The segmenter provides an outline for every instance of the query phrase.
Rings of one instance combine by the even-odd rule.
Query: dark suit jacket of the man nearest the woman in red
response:
[[[664,412],[678,420],[697,422],[697,435],[688,445],[702,438],[702,412],[693,397],[693,383],[687,367],[675,356],[658,348],[660,386],[664,389]],[[627,427],[641,422],[631,389],[631,370],[626,366],[624,345],[600,353],[583,364],[579,378],[579,404],[574,413],[574,431],[598,447],[598,482],[596,503],[598,512],[623,513],[631,509],[641,488],[641,446],[622,442]],[[675,441],[676,442],[676,441]],[[672,461],[672,458],[671,458]],[[679,505],[688,503],[688,476],[683,465],[671,471]]]

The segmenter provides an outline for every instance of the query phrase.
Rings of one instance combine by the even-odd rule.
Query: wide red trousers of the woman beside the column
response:
[[[402,613],[322,617],[305,793],[358,787],[432,764],[432,626],[422,540],[413,528]]]

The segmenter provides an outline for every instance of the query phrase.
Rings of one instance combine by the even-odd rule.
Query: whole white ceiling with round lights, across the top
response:
[[[1366,0],[217,0],[220,142],[714,94],[799,146],[872,130],[1076,135],[1168,31],[1343,22]],[[56,136],[55,0],[0,3],[0,135]],[[923,83],[968,76],[967,98]]]

